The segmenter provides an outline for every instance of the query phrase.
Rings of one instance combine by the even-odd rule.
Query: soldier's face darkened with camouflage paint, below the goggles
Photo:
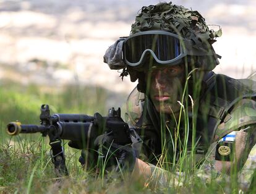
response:
[[[183,86],[185,82],[184,65],[152,68],[146,73],[150,80],[149,96],[156,111],[166,114],[179,112]]]

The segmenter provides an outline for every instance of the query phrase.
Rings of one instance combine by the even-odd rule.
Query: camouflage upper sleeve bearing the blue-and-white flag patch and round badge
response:
[[[238,169],[241,169],[249,153],[254,153],[255,149],[252,149],[256,143],[255,99],[240,99],[230,109],[223,122],[218,125],[214,141],[216,145],[215,169],[221,172],[225,168],[229,172],[235,163]],[[234,158],[234,161],[228,158]]]

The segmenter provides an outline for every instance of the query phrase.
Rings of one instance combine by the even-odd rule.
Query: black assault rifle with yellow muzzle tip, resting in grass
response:
[[[98,114],[99,115],[99,114]],[[90,148],[96,137],[108,129],[113,133],[113,142],[119,145],[132,143],[128,124],[121,119],[121,109],[109,109],[107,117],[101,119],[85,114],[50,114],[47,104],[41,105],[40,125],[23,125],[20,122],[7,124],[9,135],[19,133],[41,133],[48,135],[51,156],[57,176],[68,175],[61,140],[71,140],[69,146]],[[103,121],[104,120],[104,124]],[[103,126],[104,125],[104,126]],[[75,145],[75,146],[74,146]]]

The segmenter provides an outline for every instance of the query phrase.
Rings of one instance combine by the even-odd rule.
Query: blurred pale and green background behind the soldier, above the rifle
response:
[[[20,117],[38,120],[43,103],[54,112],[104,114],[112,106],[124,112],[137,83],[129,77],[122,82],[103,55],[119,36],[129,35],[142,6],[158,2],[0,0],[0,124]],[[221,26],[223,36],[213,44],[223,56],[216,73],[245,78],[255,72],[255,0],[173,3],[197,10],[208,25]]]

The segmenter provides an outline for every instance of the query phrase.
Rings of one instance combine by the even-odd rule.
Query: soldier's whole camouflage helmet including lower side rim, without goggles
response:
[[[211,55],[187,56],[186,60],[190,67],[200,68],[201,70],[213,70],[219,64],[218,58],[221,58],[215,53],[211,44],[215,43],[216,38],[221,36],[221,28],[218,31],[209,29],[205,23],[205,19],[198,13],[186,9],[183,6],[177,6],[172,2],[160,2],[155,6],[143,6],[141,12],[135,18],[132,24],[130,35],[144,32],[148,30],[165,30],[175,33],[193,41],[193,49],[200,53],[209,53]],[[198,53],[198,52],[197,52]],[[127,66],[130,74],[130,80],[135,82],[137,78],[140,81],[140,72]]]

